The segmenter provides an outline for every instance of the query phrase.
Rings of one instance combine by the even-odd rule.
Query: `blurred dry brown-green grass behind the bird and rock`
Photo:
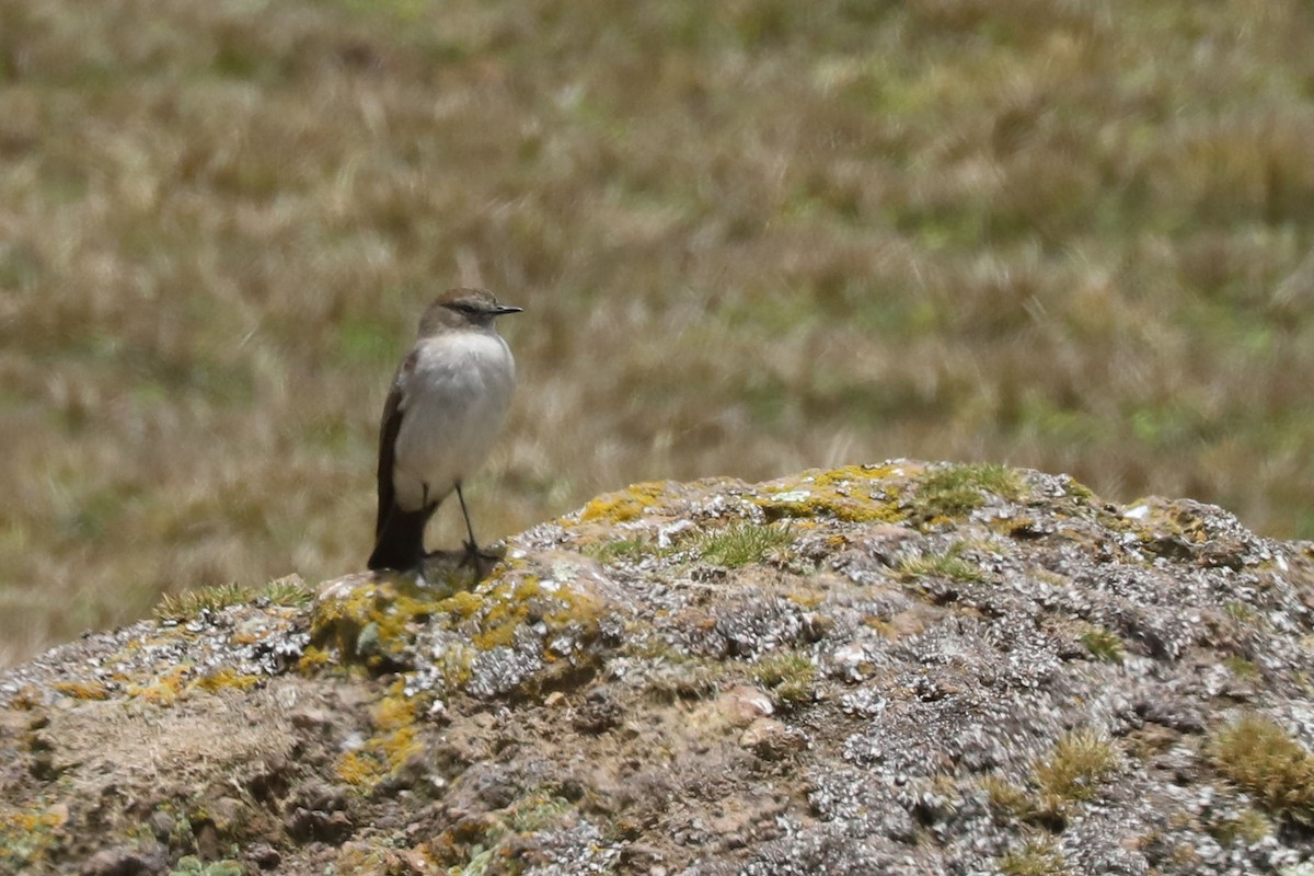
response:
[[[1305,0],[9,0],[0,665],[361,567],[456,282],[527,310],[486,540],[890,456],[1311,536],[1310,46]]]

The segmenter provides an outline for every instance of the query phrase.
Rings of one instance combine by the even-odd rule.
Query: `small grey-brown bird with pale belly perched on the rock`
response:
[[[420,566],[424,525],[452,490],[470,538],[466,557],[478,559],[461,481],[487,456],[515,385],[515,360],[493,320],[520,310],[484,289],[449,289],[420,317],[419,338],[393,377],[378,428],[371,569]]]

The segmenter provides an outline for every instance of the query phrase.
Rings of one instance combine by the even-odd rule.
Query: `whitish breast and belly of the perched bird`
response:
[[[493,332],[422,341],[401,387],[393,489],[402,510],[442,500],[484,462],[502,429],[514,382],[511,351]]]

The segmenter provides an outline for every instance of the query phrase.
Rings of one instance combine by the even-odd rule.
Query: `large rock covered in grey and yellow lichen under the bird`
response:
[[[1314,553],[1212,506],[648,483],[0,675],[0,872],[1296,876],[1311,693]]]

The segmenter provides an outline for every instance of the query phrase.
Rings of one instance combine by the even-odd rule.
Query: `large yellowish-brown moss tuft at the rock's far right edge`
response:
[[[1314,825],[1314,755],[1276,721],[1247,714],[1217,730],[1208,753],[1218,772],[1269,813]]]

